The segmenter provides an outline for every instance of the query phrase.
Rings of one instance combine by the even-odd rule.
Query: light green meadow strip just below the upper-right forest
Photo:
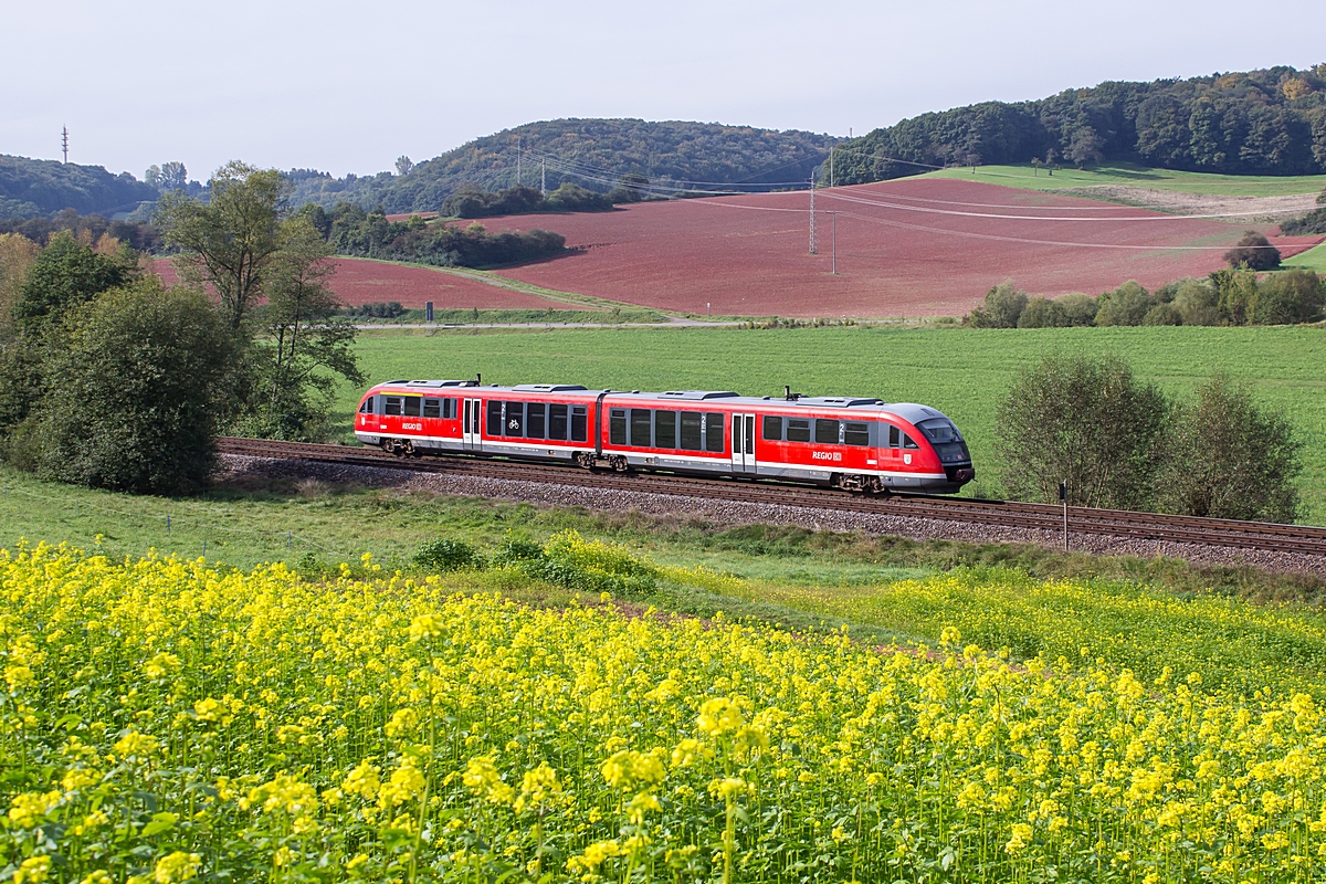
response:
[[[927,172],[922,178],[960,178],[1028,191],[1062,191],[1111,184],[1221,196],[1296,196],[1326,190],[1326,175],[1213,175],[1147,168],[1132,163],[1110,163],[1089,170],[1061,168],[1054,175],[1044,168],[1036,170],[1030,164],[977,166],[973,175],[972,167],[967,166]]]

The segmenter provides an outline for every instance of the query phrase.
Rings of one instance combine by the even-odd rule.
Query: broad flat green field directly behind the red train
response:
[[[994,411],[1021,366],[1061,349],[1115,353],[1139,376],[1185,395],[1216,368],[1284,410],[1307,445],[1303,521],[1326,524],[1323,330],[1297,327],[1110,329],[611,329],[554,331],[365,331],[370,380],[473,378],[485,383],[582,383],[614,390],[720,388],[781,395],[873,395],[948,414],[971,441],[977,489],[994,490]],[[342,388],[341,425],[361,390]]]

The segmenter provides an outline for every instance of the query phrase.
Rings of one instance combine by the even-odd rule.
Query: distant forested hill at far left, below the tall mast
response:
[[[66,208],[80,215],[131,211],[156,188],[101,166],[0,154],[0,220],[41,217]]]

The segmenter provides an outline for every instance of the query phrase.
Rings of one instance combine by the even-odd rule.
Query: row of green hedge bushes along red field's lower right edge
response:
[[[1013,282],[1001,282],[985,294],[985,305],[972,310],[968,322],[977,329],[1293,325],[1317,322],[1323,306],[1326,292],[1315,273],[1286,270],[1258,280],[1254,272],[1238,269],[1168,282],[1155,292],[1130,281],[1094,298],[1033,298]]]

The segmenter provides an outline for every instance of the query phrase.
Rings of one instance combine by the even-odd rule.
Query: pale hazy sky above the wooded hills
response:
[[[0,154],[339,176],[538,119],[833,135],[1105,80],[1326,61],[1326,3],[3,0]]]

